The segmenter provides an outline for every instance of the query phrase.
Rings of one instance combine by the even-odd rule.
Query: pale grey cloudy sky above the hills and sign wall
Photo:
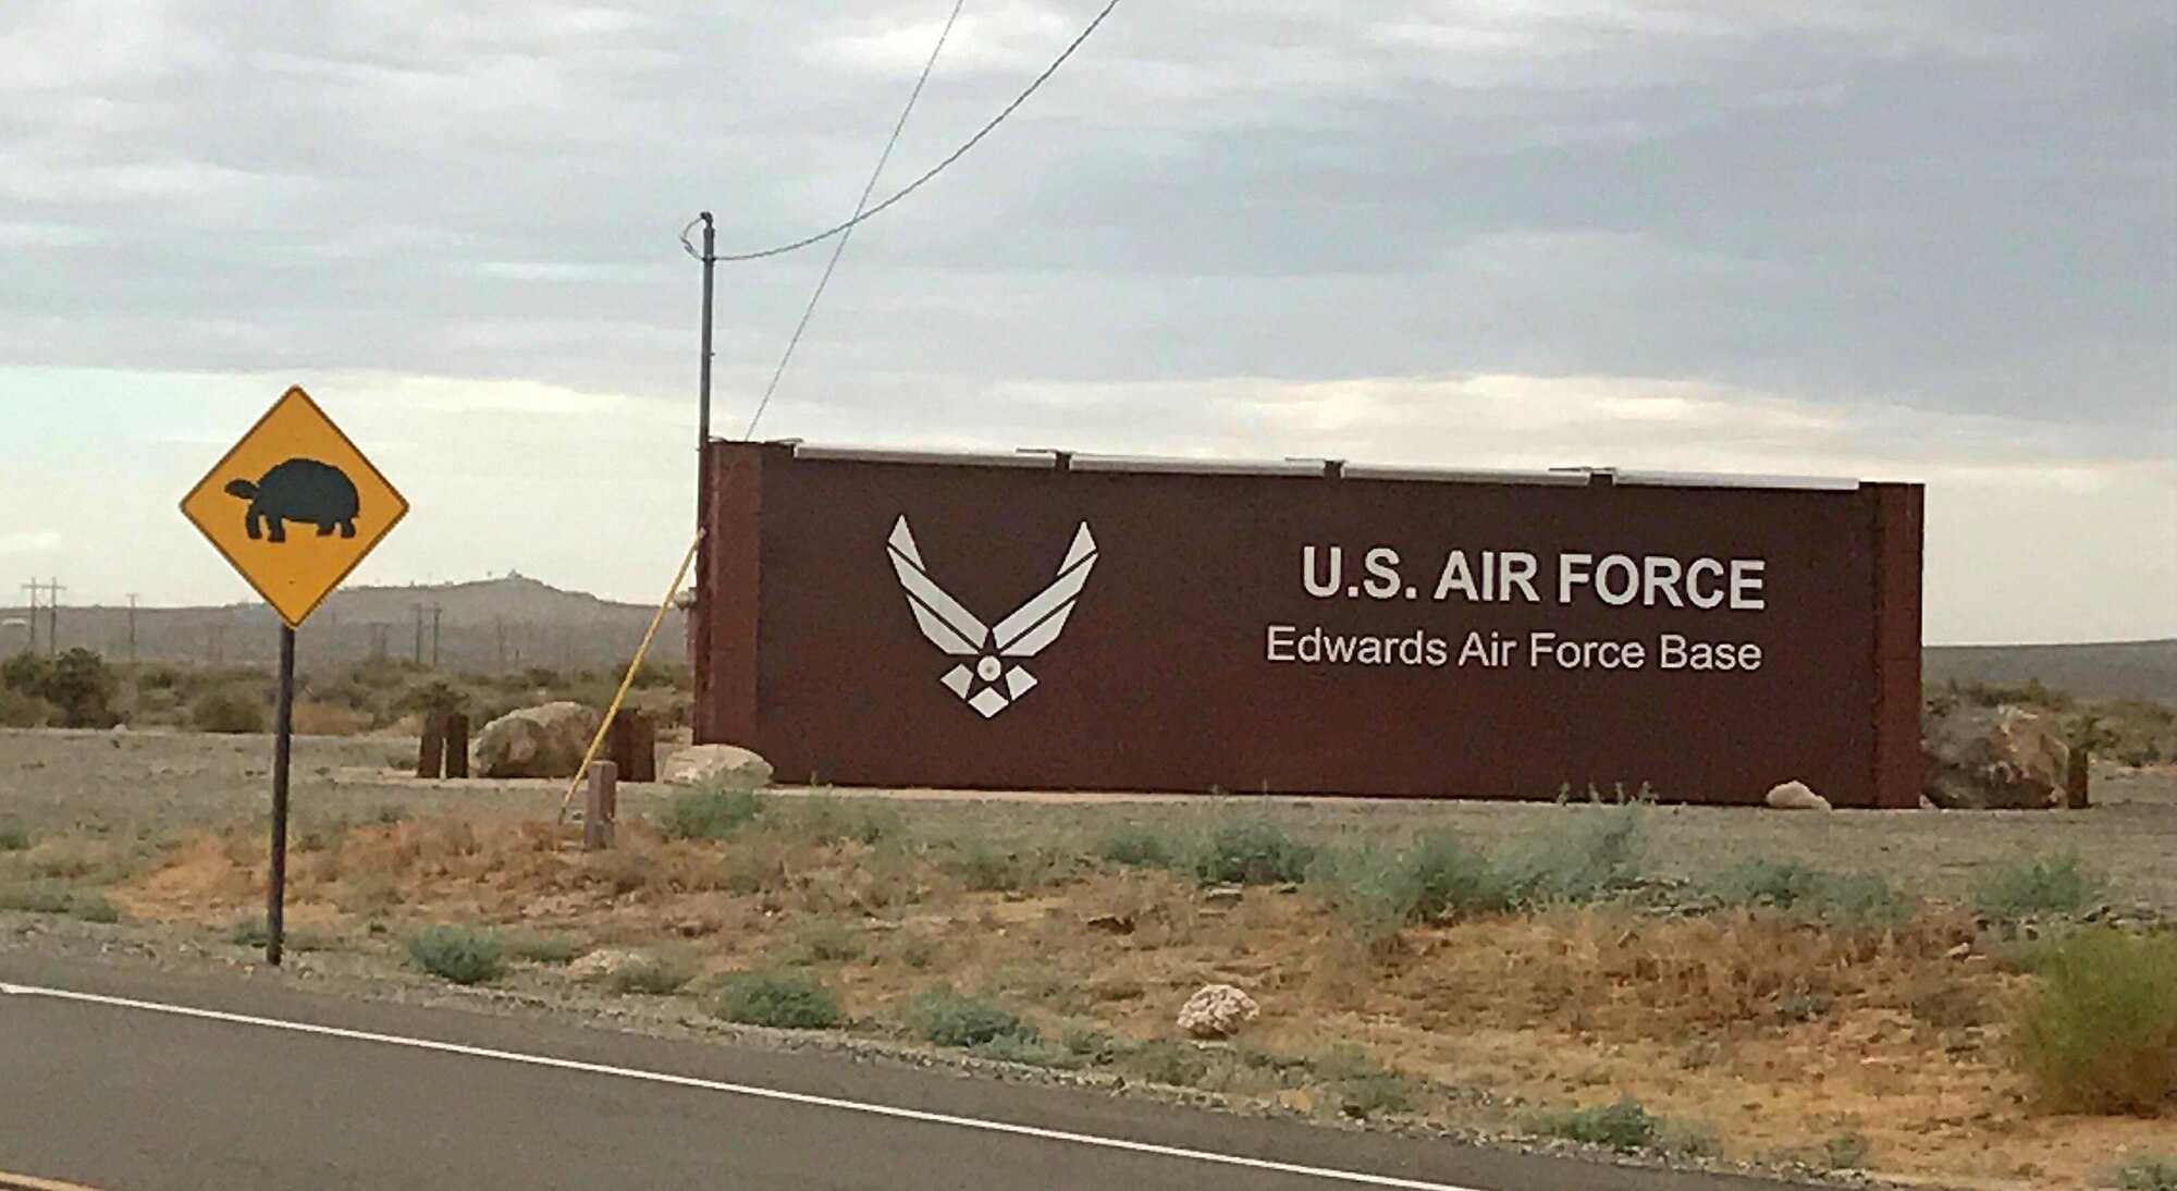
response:
[[[1099,7],[967,0],[888,179]],[[305,383],[418,507],[361,581],[655,599],[675,237],[851,213],[949,9],[0,4],[0,590],[242,599],[174,501]],[[2177,636],[2173,63],[2160,0],[1126,0],[760,435],[1916,479],[1929,640]],[[823,255],[721,268],[725,429]]]

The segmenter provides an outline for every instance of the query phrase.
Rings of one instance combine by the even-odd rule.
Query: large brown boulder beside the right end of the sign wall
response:
[[[2057,808],[2068,773],[2055,721],[2022,708],[1948,708],[1920,732],[1920,786],[1944,810]]]

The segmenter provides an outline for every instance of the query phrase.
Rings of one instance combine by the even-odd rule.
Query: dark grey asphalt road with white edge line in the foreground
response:
[[[0,1187],[1776,1187],[263,980],[0,954]]]

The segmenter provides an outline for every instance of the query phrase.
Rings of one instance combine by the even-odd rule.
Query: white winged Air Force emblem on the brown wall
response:
[[[1058,634],[1067,627],[1067,616],[1073,614],[1073,603],[1088,584],[1088,573],[1095,570],[1097,557],[1095,536],[1088,533],[1088,523],[1084,520],[1073,533],[1073,544],[1067,549],[1065,562],[1058,564],[1058,579],[1051,579],[1049,588],[1036,592],[1019,612],[1006,616],[993,629],[977,621],[973,612],[960,607],[960,601],[945,594],[945,588],[936,586],[930,568],[923,566],[921,551],[914,549],[914,531],[908,529],[906,516],[893,525],[888,553],[893,555],[893,570],[899,573],[899,586],[908,592],[908,607],[914,612],[914,623],[921,625],[930,644],[943,649],[947,658],[971,660],[960,662],[938,682],[960,699],[967,699],[967,705],[982,712],[982,719],[1004,712],[1021,695],[1034,690],[1036,675],[1014,664],[1014,660],[1034,658],[1058,640]]]

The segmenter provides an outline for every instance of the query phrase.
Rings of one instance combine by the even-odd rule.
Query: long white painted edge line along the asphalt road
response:
[[[142,1012],[163,1012],[172,1017],[196,1017],[202,1021],[226,1021],[233,1026],[255,1026],[261,1030],[287,1030],[294,1034],[318,1034],[322,1039],[346,1039],[355,1043],[381,1043],[409,1049],[429,1049],[438,1054],[459,1054],[468,1058],[496,1058],[501,1063],[520,1063],[527,1067],[551,1067],[555,1071],[581,1071],[588,1076],[614,1076],[620,1080],[642,1080],[649,1084],[668,1084],[701,1091],[723,1091],[727,1095],[747,1095],[753,1100],[777,1100],[786,1104],[805,1104],[810,1108],[832,1108],[838,1113],[864,1113],[869,1117],[890,1117],[899,1121],[919,1121],[927,1126],[951,1126],[977,1132],[1001,1132],[1012,1137],[1032,1137],[1038,1141],[1067,1141],[1073,1145],[1093,1145],[1097,1150],[1123,1150],[1128,1154],[1152,1154],[1158,1158],[1178,1158],[1186,1163],[1210,1163],[1219,1167],[1241,1167],[1258,1171],[1291,1174],[1300,1178],[1319,1178],[1326,1182],[1348,1182],[1356,1187],[1398,1187],[1402,1191],[1487,1191],[1483,1187],[1459,1187],[1452,1182],[1422,1182],[1417,1178],[1393,1178],[1385,1174],[1363,1174],[1363,1171],[1341,1171],[1330,1167],[1306,1167],[1297,1163],[1274,1163],[1267,1158],[1247,1158],[1241,1154],[1219,1154],[1215,1150],[1189,1150],[1184,1145],[1156,1145],[1149,1141],[1128,1141],[1123,1137],[1097,1137],[1093,1132],[1067,1132],[1067,1130],[1045,1130],[1036,1126],[1017,1126],[1008,1121],[984,1121],[977,1117],[954,1117],[949,1113],[923,1113],[917,1108],[897,1108],[890,1104],[864,1104],[860,1100],[836,1100],[829,1095],[805,1095],[799,1091],[764,1089],[755,1084],[727,1084],[718,1080],[699,1080],[694,1076],[673,1076],[666,1071],[644,1071],[640,1067],[610,1067],[605,1063],[579,1063],[575,1058],[553,1058],[546,1054],[520,1054],[512,1049],[490,1049],[490,1047],[468,1047],[459,1043],[440,1043],[433,1039],[407,1039],[401,1034],[372,1034],[368,1030],[342,1030],[337,1026],[313,1026],[309,1021],[281,1021],[276,1017],[250,1017],[242,1012],[220,1012],[211,1008],[192,1006],[170,1006],[161,1002],[137,1002],[131,997],[102,997],[96,993],[72,993],[67,989],[39,989],[26,984],[0,984],[0,995],[9,997],[50,997],[59,1002],[78,1002],[91,1006],[109,1008],[133,1008]]]

